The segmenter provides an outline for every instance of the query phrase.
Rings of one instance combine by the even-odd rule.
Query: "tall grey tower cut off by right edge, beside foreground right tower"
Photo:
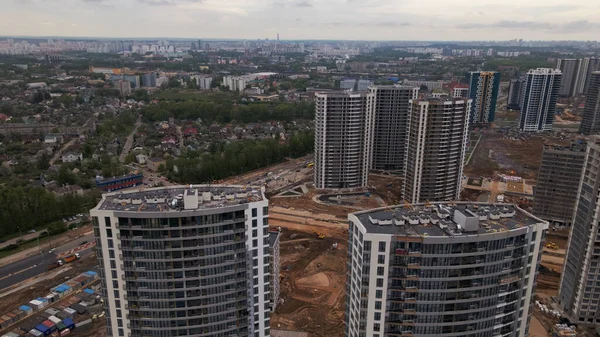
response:
[[[558,300],[574,323],[600,323],[600,146],[588,144]]]

